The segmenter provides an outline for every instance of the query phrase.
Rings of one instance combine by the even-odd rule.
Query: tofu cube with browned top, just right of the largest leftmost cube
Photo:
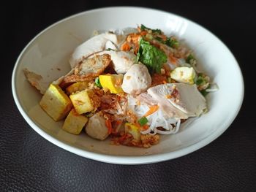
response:
[[[91,99],[89,97],[89,91],[80,91],[78,93],[70,95],[69,97],[72,101],[73,106],[75,107],[75,111],[79,115],[94,110],[94,106],[91,103]]]

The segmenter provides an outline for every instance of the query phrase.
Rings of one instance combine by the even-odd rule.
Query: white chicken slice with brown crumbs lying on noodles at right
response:
[[[149,88],[148,93],[153,98],[157,96],[162,101],[168,101],[189,117],[199,116],[207,108],[206,99],[197,90],[196,85],[167,83]]]

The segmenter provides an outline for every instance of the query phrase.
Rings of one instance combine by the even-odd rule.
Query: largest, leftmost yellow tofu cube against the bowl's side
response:
[[[50,84],[42,96],[39,105],[53,120],[61,120],[67,116],[72,109],[69,97],[61,90],[59,85]]]

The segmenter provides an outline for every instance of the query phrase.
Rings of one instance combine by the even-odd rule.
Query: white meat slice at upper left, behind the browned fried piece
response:
[[[108,42],[109,44],[109,41],[113,42],[113,44],[117,44],[118,40],[116,34],[99,34],[83,42],[83,44],[76,47],[74,53],[72,53],[69,60],[71,68],[74,68],[84,58],[89,57],[89,55],[105,50],[106,43]]]

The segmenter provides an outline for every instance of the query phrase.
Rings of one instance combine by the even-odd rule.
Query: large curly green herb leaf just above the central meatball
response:
[[[149,72],[161,72],[162,65],[167,62],[167,56],[162,50],[150,45],[143,38],[140,39],[137,62],[145,64]]]

